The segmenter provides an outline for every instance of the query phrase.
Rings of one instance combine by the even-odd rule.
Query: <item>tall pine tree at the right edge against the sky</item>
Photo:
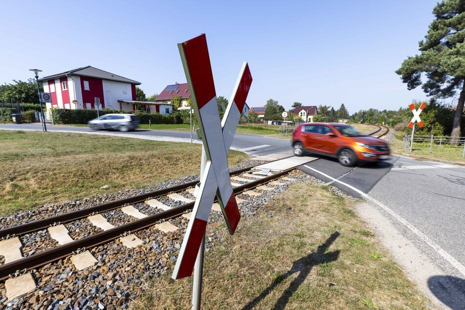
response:
[[[396,73],[409,90],[421,86],[429,96],[447,98],[461,90],[451,133],[458,137],[465,102],[465,1],[443,0],[433,14],[436,19],[419,43],[421,54],[404,60]]]

